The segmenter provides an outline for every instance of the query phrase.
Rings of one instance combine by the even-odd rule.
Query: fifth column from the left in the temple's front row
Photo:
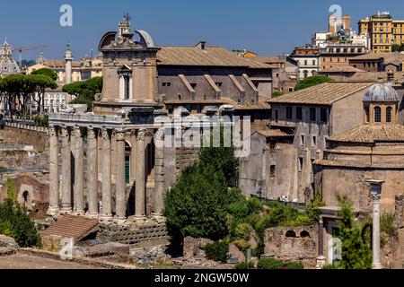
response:
[[[110,132],[102,129],[102,213],[101,218],[112,218],[111,206],[111,175],[110,175]]]

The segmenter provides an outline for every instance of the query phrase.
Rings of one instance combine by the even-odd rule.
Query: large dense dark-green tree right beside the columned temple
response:
[[[165,199],[164,215],[174,245],[187,236],[224,239],[229,205],[242,197],[240,190],[229,188],[237,167],[233,148],[206,147],[199,161],[182,171]]]

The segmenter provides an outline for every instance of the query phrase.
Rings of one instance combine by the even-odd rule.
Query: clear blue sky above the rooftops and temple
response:
[[[73,7],[73,27],[59,25],[62,4]],[[125,12],[135,29],[148,31],[157,45],[247,48],[260,55],[290,53],[327,30],[329,6],[339,4],[352,25],[377,10],[404,19],[403,0],[20,0],[0,10],[0,38],[13,47],[48,44],[47,58],[62,58],[70,41],[75,58],[90,54],[102,35],[116,30]],[[2,39],[3,41],[3,39]],[[23,58],[36,59],[40,51]]]

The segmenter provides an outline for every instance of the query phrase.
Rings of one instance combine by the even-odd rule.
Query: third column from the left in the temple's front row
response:
[[[84,214],[83,157],[83,132],[79,126],[75,126],[75,215]]]

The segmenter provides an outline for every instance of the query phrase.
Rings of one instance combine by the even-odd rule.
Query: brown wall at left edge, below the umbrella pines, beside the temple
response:
[[[32,144],[35,152],[45,152],[48,148],[48,136],[46,133],[23,128],[6,126],[0,130],[2,143]]]

